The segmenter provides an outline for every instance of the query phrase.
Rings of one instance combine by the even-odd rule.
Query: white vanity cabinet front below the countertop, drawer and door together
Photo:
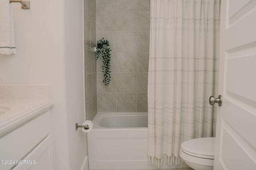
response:
[[[46,109],[0,137],[0,170],[53,170],[51,140]]]

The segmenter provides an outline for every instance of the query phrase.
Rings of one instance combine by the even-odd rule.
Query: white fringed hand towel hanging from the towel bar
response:
[[[15,54],[12,3],[0,0],[0,54]]]

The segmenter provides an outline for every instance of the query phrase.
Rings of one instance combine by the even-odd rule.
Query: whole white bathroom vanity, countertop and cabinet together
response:
[[[1,170],[53,169],[49,109],[53,105],[50,98],[0,99]]]

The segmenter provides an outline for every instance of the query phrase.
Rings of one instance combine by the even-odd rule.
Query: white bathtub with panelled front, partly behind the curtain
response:
[[[89,169],[156,169],[147,162],[147,113],[97,113],[88,133]],[[184,168],[184,165],[158,168]]]

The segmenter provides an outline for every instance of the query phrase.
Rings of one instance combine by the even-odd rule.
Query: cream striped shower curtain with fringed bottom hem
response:
[[[220,0],[151,0],[148,163],[180,163],[181,143],[214,137]]]

